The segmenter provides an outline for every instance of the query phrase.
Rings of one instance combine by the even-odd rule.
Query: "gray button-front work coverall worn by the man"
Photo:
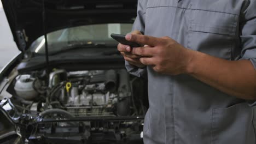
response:
[[[230,61],[248,59],[256,68],[254,0],[138,0],[133,29]],[[144,143],[256,143],[252,101],[189,75],[161,75],[127,62],[126,68],[136,76],[148,74]]]

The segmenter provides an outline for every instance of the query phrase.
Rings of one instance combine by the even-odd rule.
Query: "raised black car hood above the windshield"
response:
[[[44,32],[96,23],[132,23],[137,9],[137,0],[2,0],[2,3],[20,51],[27,50]]]

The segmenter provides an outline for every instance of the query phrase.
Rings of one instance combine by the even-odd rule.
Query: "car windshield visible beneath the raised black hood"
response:
[[[74,49],[78,46],[93,47],[96,45],[114,46],[117,41],[110,37],[111,33],[127,34],[131,32],[131,23],[104,23],[61,29],[47,34],[49,53]],[[30,51],[45,53],[44,35],[35,40]]]

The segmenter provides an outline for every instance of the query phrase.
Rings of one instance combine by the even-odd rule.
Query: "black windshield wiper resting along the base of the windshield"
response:
[[[75,49],[81,49],[81,48],[94,48],[94,47],[106,47],[105,43],[70,43],[67,46],[62,47],[60,51],[51,52],[49,55],[53,56],[58,53],[67,52]]]

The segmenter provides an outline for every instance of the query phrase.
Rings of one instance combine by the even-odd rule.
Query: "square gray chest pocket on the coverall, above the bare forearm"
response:
[[[188,48],[231,59],[238,16],[210,10],[190,9]]]

